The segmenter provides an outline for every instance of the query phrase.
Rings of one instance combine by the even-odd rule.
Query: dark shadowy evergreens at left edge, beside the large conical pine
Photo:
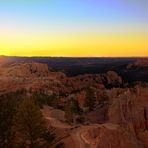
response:
[[[12,122],[22,95],[22,91],[17,91],[0,96],[0,147],[8,147],[11,143]]]

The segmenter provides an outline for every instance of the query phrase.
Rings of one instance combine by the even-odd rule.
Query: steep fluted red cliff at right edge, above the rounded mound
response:
[[[128,90],[119,95],[118,98],[113,99],[108,110],[108,122],[124,125],[132,132],[134,131],[134,134],[140,130],[146,130],[148,127],[147,95],[136,96],[136,93],[132,94]]]

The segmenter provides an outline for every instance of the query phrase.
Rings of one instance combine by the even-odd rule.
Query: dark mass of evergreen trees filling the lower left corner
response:
[[[54,140],[55,135],[46,129],[38,104],[23,90],[0,96],[0,147],[32,148],[39,139],[48,144]]]

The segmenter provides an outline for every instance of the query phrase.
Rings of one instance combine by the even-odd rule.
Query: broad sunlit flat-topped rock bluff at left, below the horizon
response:
[[[53,87],[60,86],[59,79],[65,77],[61,72],[52,72],[46,64],[9,63],[0,67],[0,92],[6,93],[18,89],[45,91],[51,94]]]

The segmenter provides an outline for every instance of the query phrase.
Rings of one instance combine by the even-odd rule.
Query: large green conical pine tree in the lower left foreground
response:
[[[23,142],[28,140],[30,147],[34,147],[36,140],[44,132],[44,124],[39,107],[33,99],[24,99],[14,118],[13,131],[19,134]]]

